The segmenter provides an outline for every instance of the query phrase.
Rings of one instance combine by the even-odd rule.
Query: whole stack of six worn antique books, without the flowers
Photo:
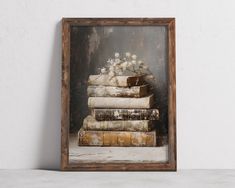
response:
[[[143,76],[90,75],[79,146],[156,146],[159,110]]]

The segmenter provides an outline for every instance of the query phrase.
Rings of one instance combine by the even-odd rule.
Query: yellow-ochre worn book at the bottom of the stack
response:
[[[85,131],[78,132],[79,146],[126,146],[154,147],[156,132]]]

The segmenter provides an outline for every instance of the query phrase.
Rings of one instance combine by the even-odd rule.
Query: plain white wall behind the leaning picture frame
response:
[[[175,17],[178,168],[235,168],[235,1],[0,0],[0,168],[59,168],[62,17]]]

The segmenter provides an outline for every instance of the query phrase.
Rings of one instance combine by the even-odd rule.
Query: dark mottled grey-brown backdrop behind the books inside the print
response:
[[[88,115],[87,79],[113,58],[115,52],[137,55],[149,66],[154,81],[155,107],[160,109],[156,124],[167,134],[167,28],[164,26],[72,26],[70,59],[70,132],[77,132]]]

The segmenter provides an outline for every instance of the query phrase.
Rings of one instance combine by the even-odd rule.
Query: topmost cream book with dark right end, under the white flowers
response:
[[[139,86],[144,83],[144,76],[113,76],[109,75],[90,75],[88,78],[88,85],[103,85],[103,86],[117,86],[130,87]]]

